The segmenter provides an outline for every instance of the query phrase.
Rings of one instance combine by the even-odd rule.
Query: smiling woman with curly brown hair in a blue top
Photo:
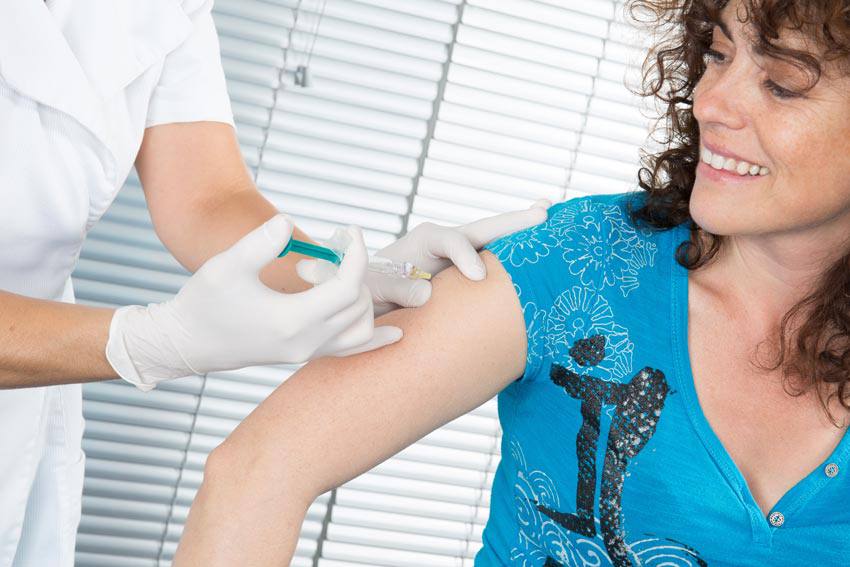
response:
[[[175,566],[287,565],[316,496],[497,392],[476,565],[847,564],[850,3],[635,4],[672,25],[644,191],[556,205],[384,317],[400,343],[284,383]]]

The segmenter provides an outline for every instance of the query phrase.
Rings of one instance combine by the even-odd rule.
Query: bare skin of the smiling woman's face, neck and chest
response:
[[[830,411],[839,427],[816,391],[790,396],[781,372],[750,361],[762,341],[776,344],[782,316],[848,250],[850,80],[826,67],[810,91],[781,96],[783,88],[800,92],[807,77],[754,53],[740,10],[730,3],[722,13],[727,31],[714,30],[694,115],[702,143],[770,174],[740,183],[718,180],[704,163],[697,170],[691,215],[726,242],[712,263],[689,274],[688,343],[703,412],[768,514],[822,466],[846,429],[837,400]],[[807,47],[791,34],[781,43]],[[781,427],[766,425],[777,416]]]

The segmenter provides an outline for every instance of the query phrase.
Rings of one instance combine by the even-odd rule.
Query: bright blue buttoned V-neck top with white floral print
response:
[[[850,565],[850,437],[765,517],[694,388],[675,260],[688,229],[636,228],[629,195],[560,203],[488,246],[528,360],[498,396],[476,567]]]

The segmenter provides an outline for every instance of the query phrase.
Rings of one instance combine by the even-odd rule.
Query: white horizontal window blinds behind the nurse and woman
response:
[[[642,40],[613,0],[217,0],[246,163],[309,234],[367,246],[539,197],[634,188]],[[309,66],[309,87],[296,84]],[[74,273],[81,303],[162,301],[188,274],[131,176]],[[80,567],[171,564],[206,455],[297,368],[84,386]],[[388,424],[388,426],[390,426]],[[495,399],[312,504],[293,566],[470,566],[501,431]]]

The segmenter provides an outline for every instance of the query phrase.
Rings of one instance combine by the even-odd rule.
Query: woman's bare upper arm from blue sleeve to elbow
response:
[[[430,301],[377,324],[404,330],[391,346],[311,362],[224,442],[229,463],[250,462],[250,489],[284,475],[315,497],[376,466],[486,402],[522,374],[525,325],[513,285],[491,254],[487,278],[439,274]],[[260,488],[265,487],[265,488]]]

